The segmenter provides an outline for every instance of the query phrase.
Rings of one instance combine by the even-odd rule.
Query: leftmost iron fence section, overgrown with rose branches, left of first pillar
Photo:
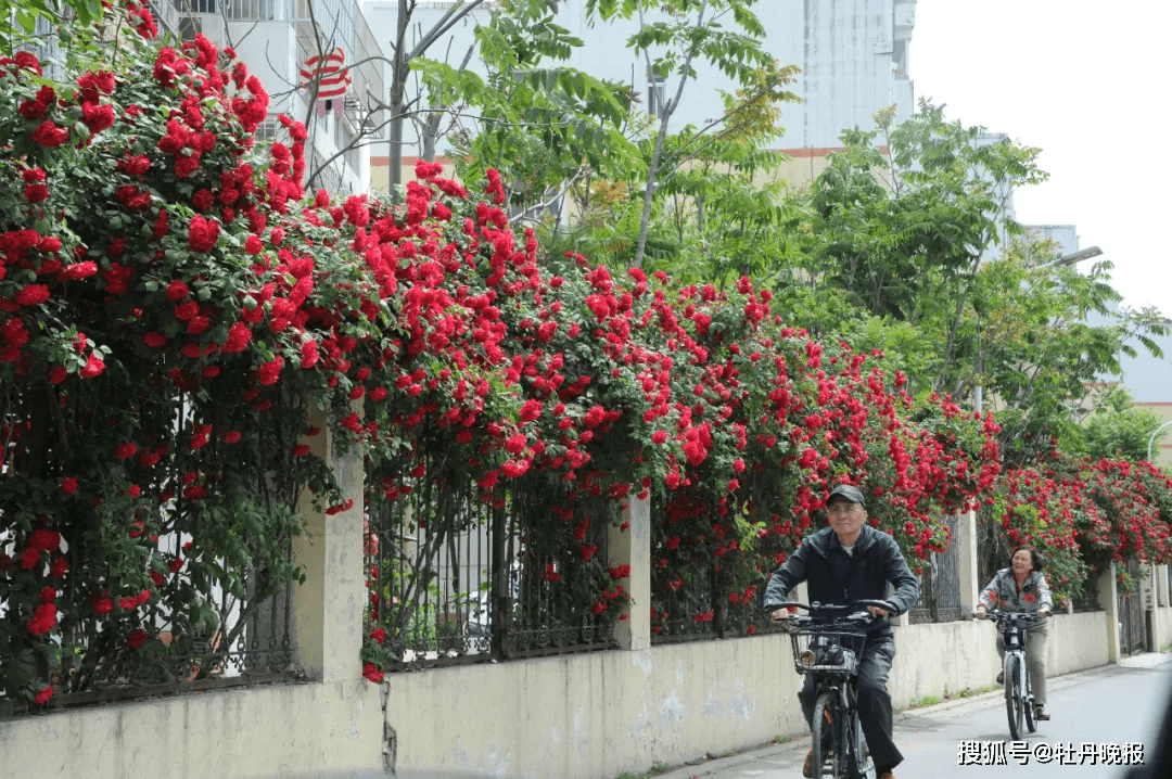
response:
[[[177,428],[189,428],[196,419],[196,406],[179,396],[173,412]],[[279,426],[279,425],[278,425]],[[285,433],[286,449],[292,449],[297,430]],[[182,480],[172,465],[172,484]],[[294,515],[300,484],[291,476],[258,474],[257,494],[265,496],[268,511]],[[120,602],[118,614],[134,613],[134,623],[118,623],[113,616],[116,596],[104,594],[110,602],[98,609],[91,587],[67,581],[55,593],[62,613],[74,616],[60,620],[49,633],[57,651],[36,652],[30,661],[34,678],[53,685],[48,708],[74,706],[159,695],[192,692],[209,688],[234,686],[263,682],[295,681],[302,675],[293,664],[292,641],[292,538],[271,538],[274,553],[254,554],[255,565],[240,568],[224,556],[200,556],[192,563],[191,542],[199,529],[202,510],[179,491],[158,508],[157,539],[143,549],[142,565],[157,574],[154,596],[146,603]],[[19,531],[0,527],[0,552],[12,554]],[[241,544],[248,544],[243,534]],[[68,570],[87,570],[96,561],[94,548],[84,537],[64,538],[63,558]],[[156,574],[152,574],[152,578]],[[15,619],[9,610],[7,589],[0,594],[0,620]],[[139,610],[142,609],[142,610]],[[130,628],[136,628],[130,630]],[[8,697],[0,686],[0,699]],[[25,710],[23,702],[0,701],[0,715]]]

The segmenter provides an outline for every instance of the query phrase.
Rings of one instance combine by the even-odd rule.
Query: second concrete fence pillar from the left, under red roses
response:
[[[626,620],[615,623],[614,637],[620,649],[650,649],[652,645],[652,503],[629,498],[622,512],[627,529],[611,526],[607,538],[607,565],[631,566],[627,590],[631,602],[624,607]]]

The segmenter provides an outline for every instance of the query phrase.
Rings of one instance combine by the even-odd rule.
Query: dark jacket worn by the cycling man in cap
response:
[[[857,559],[854,559],[857,558]],[[885,600],[898,616],[920,600],[920,582],[912,574],[895,539],[870,525],[859,528],[853,554],[838,542],[833,528],[825,527],[802,541],[765,589],[765,608],[785,602],[790,590],[808,582],[810,602],[843,606],[852,601]],[[887,594],[891,583],[895,592]],[[867,633],[891,635],[891,620],[875,620]]]

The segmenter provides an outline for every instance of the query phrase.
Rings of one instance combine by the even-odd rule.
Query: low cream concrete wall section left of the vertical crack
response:
[[[298,684],[0,723],[0,777],[382,775],[381,691]]]

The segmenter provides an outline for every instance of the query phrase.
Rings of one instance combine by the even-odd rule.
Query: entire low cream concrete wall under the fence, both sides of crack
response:
[[[1172,611],[1172,609],[1165,609]],[[1051,620],[1051,676],[1108,662],[1106,613]],[[613,779],[805,732],[785,635],[127,703],[0,724],[0,777]],[[897,706],[993,684],[993,626],[897,628]],[[386,716],[383,715],[386,706]],[[384,729],[386,723],[386,729]],[[55,749],[45,750],[46,744]]]

